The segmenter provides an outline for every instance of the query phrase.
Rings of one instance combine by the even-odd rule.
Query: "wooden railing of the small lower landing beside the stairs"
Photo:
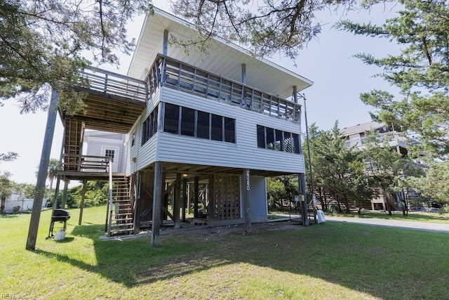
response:
[[[111,157],[95,155],[62,155],[62,170],[107,172]]]

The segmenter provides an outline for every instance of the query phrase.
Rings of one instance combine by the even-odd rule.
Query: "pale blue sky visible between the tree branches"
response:
[[[156,7],[169,11],[166,0],[156,0],[153,3]],[[393,8],[392,11],[395,10]],[[346,18],[357,22],[371,21],[381,24],[384,19],[393,17],[392,11],[391,6],[384,8],[382,5],[370,12],[353,12],[349,15],[321,12],[316,15],[322,20],[321,34],[309,42],[295,62],[288,58],[269,58],[274,63],[314,81],[313,86],[301,92],[307,98],[309,125],[315,123],[319,129],[327,130],[333,127],[335,120],[339,121],[341,129],[370,121],[368,112],[372,108],[361,103],[359,94],[372,89],[389,89],[389,86],[380,78],[372,78],[382,70],[364,65],[353,56],[362,52],[387,56],[389,53],[397,53],[398,46],[384,39],[356,37],[351,33],[338,32],[331,26],[335,20]],[[128,30],[130,37],[138,38],[142,21],[142,17],[135,18],[135,22],[130,24]],[[119,70],[112,66],[102,67],[126,74],[129,62],[130,57],[123,56]],[[0,107],[0,153],[14,151],[20,156],[14,162],[1,162],[0,170],[11,171],[13,181],[18,183],[36,184],[35,172],[40,162],[47,114],[37,112],[20,115],[14,100],[6,100],[4,104],[4,107]],[[60,157],[62,132],[62,124],[58,117],[52,158]]]

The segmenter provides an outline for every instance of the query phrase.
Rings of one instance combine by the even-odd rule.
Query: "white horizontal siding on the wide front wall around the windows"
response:
[[[298,134],[300,134],[300,125],[173,89],[162,88],[161,100],[236,119],[236,143],[159,132],[157,154],[159,161],[292,173],[304,172],[302,155],[257,148],[257,124]]]

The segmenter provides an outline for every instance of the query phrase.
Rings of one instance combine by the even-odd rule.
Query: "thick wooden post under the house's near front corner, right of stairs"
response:
[[[152,216],[152,247],[159,246],[159,228],[161,227],[162,202],[162,162],[154,163],[153,216]]]

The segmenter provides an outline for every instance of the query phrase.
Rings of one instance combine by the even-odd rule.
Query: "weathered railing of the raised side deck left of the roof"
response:
[[[86,89],[147,103],[147,84],[144,81],[89,66],[81,72],[81,75],[85,82],[80,86]]]

